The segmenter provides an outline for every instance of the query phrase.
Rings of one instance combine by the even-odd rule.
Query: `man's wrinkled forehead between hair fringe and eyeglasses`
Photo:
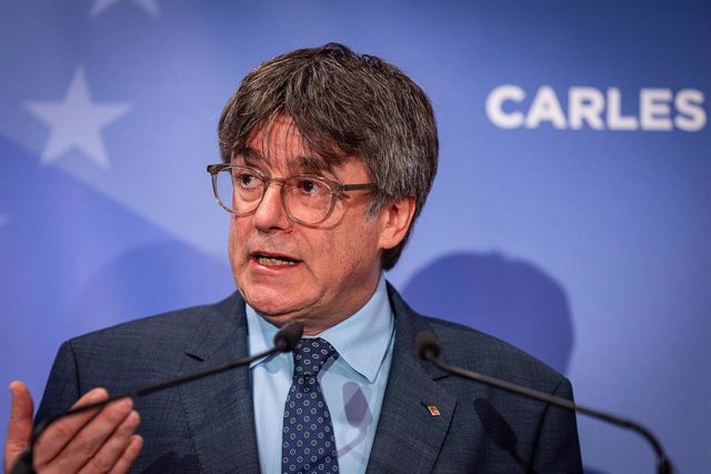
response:
[[[301,132],[286,114],[261,120],[249,133],[247,142],[234,148],[232,161],[283,169],[289,173],[331,172],[349,157],[328,137]]]

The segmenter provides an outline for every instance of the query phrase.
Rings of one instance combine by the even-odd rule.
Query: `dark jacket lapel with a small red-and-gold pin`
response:
[[[431,472],[457,400],[435,382],[447,374],[417,357],[414,337],[428,329],[427,323],[392,286],[388,290],[395,314],[395,341],[367,472]]]

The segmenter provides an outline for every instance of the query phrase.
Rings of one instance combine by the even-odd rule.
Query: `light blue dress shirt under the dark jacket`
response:
[[[247,305],[250,354],[273,345],[279,327]],[[318,335],[338,359],[319,374],[331,413],[340,472],[364,473],[385,394],[394,339],[394,316],[381,276],[371,299],[356,314]],[[281,431],[291,387],[291,353],[250,365],[259,463],[263,474],[281,473]]]

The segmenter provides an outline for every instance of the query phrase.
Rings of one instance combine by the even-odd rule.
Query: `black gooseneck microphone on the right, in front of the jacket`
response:
[[[468,371],[465,369],[458,367],[455,365],[450,365],[447,362],[439,359],[440,355],[440,344],[437,340],[437,336],[432,334],[430,331],[422,331],[418,334],[415,339],[415,344],[418,349],[418,355],[420,359],[431,362],[433,365],[443,370],[444,372],[449,372],[454,375],[459,375],[464,379],[473,380],[475,382],[481,382],[487,385],[494,386],[497,389],[505,390],[519,395],[527,396],[529,399],[538,400],[540,402],[550,403],[551,405],[560,406],[562,409],[570,410],[572,412],[582,413],[583,415],[591,416],[593,418],[602,420],[607,423],[611,423],[617,426],[621,426],[627,430],[632,430],[638,434],[642,435],[654,450],[657,454],[657,473],[658,474],[674,474],[674,467],[664,453],[664,450],[657,438],[654,434],[644,426],[633,422],[629,418],[623,418],[621,416],[617,416],[600,410],[591,409],[588,406],[583,406],[580,404],[575,404],[568,399],[563,399],[560,396],[551,395],[550,393],[540,392],[538,390],[529,389],[523,385],[518,385],[515,383],[507,382],[501,379],[495,379],[489,375],[480,374],[478,372]]]

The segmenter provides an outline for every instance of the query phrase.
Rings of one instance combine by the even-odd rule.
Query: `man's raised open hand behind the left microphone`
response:
[[[9,473],[32,437],[32,397],[21,382],[10,384],[12,409],[4,445],[4,472]],[[109,396],[94,389],[74,406]],[[96,416],[94,416],[96,415]],[[130,399],[103,409],[90,410],[52,423],[34,443],[34,470],[38,473],[124,473],[143,445],[134,434],[140,422]]]

